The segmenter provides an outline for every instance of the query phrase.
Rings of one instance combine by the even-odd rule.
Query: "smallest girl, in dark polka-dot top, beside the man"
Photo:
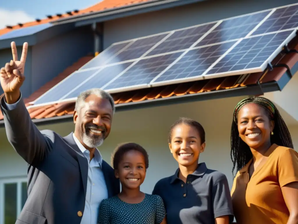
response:
[[[136,143],[116,148],[112,156],[121,193],[101,202],[100,224],[165,224],[165,209],[161,197],[140,191],[148,168],[148,154]]]

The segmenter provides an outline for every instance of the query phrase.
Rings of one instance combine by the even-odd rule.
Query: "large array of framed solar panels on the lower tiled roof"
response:
[[[264,71],[296,36],[298,4],[112,44],[34,105]]]

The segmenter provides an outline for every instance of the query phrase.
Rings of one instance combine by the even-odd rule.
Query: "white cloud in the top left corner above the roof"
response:
[[[16,25],[34,20],[32,16],[24,11],[12,11],[0,8],[0,29],[5,28],[6,25]]]

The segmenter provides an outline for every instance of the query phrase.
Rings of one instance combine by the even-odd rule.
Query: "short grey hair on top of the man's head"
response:
[[[115,113],[115,105],[114,105],[114,99],[111,96],[110,93],[106,92],[105,90],[102,89],[89,89],[86,90],[82,93],[80,93],[80,95],[77,97],[77,100],[75,102],[75,111],[77,111],[77,113],[79,113],[80,109],[84,106],[85,100],[87,99],[88,96],[90,95],[96,95],[102,99],[107,99],[108,101],[110,101],[112,109],[113,109],[113,114]]]

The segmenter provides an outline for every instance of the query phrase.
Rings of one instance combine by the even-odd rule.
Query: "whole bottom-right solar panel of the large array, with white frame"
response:
[[[207,70],[205,78],[264,71],[295,35],[296,31],[290,30],[243,39]]]

